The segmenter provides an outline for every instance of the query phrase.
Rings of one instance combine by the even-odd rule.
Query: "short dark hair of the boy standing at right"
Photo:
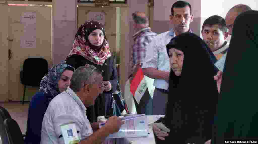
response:
[[[213,16],[207,18],[203,23],[203,29],[204,29],[205,26],[211,27],[215,24],[219,25],[220,30],[222,32],[227,32],[228,31],[225,19],[221,16],[218,16],[218,15],[213,15]]]

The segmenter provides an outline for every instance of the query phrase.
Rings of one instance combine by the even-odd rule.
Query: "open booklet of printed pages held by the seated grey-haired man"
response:
[[[110,134],[107,138],[125,138],[125,137],[147,137],[148,123],[145,114],[128,116],[121,118],[125,123],[118,132]],[[100,127],[105,123],[100,123]]]

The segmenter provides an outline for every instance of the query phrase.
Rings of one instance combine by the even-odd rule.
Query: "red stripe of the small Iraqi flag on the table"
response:
[[[136,72],[133,80],[131,81],[131,85],[130,85],[130,91],[134,96],[135,91],[137,90],[139,84],[141,83],[143,79],[143,72],[142,72],[142,68],[139,68],[139,70]]]

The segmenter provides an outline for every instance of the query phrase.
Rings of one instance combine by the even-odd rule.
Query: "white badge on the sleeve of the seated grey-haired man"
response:
[[[60,127],[65,144],[79,143],[80,139],[78,137],[75,123],[62,124]]]

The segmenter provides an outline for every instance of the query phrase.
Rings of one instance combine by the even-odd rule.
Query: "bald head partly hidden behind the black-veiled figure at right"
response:
[[[235,21],[236,17],[239,14],[241,14],[245,11],[249,11],[249,10],[252,10],[249,6],[243,5],[243,4],[238,4],[238,5],[233,6],[228,11],[225,20],[226,20],[226,25],[229,28],[229,34],[230,35],[232,34],[233,24],[234,24],[234,21]]]

